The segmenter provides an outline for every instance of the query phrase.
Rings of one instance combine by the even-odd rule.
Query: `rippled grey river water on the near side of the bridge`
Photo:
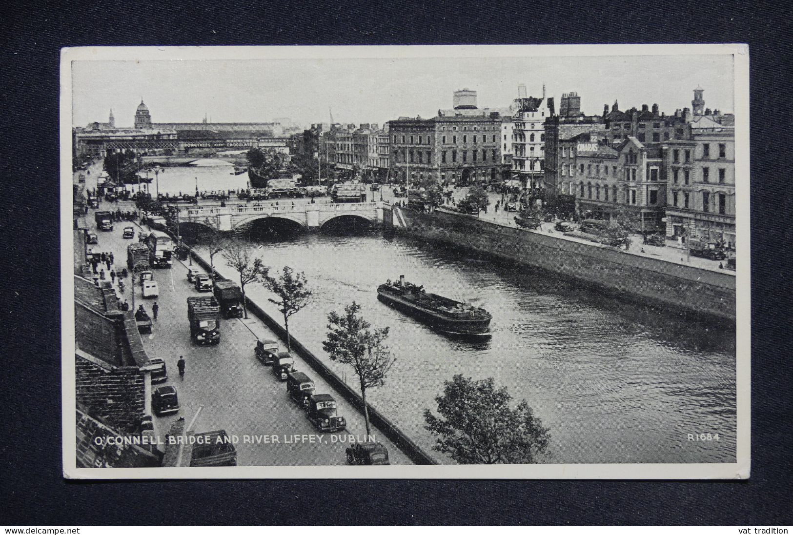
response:
[[[515,400],[527,399],[550,427],[550,462],[734,461],[734,331],[379,232],[259,239],[251,249],[274,269],[305,271],[313,300],[289,324],[317,355],[325,355],[328,312],[353,300],[374,326],[391,328],[397,362],[368,397],[439,462],[450,460],[432,451],[423,410],[435,409],[443,381],[455,373],[492,376]],[[379,302],[377,285],[401,274],[488,309],[492,337],[448,338]],[[278,317],[261,286],[247,292]],[[325,362],[355,384],[351,369]],[[700,433],[718,441],[689,440]]]

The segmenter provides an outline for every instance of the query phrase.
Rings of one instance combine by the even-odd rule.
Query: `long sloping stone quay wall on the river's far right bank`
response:
[[[500,261],[595,286],[610,295],[684,311],[718,323],[735,323],[735,276],[508,227],[442,209],[422,213],[386,208],[395,233],[485,254]],[[527,272],[531,276],[531,272]]]

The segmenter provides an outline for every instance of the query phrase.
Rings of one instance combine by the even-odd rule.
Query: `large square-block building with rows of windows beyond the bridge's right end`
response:
[[[390,176],[410,185],[495,181],[501,170],[501,123],[496,112],[391,120]]]

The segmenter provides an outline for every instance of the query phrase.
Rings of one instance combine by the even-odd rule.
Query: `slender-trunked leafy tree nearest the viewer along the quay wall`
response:
[[[368,437],[369,405],[366,403],[366,389],[382,386],[386,374],[397,359],[384,343],[389,336],[389,328],[371,331],[371,323],[363,319],[360,311],[361,305],[353,301],[344,307],[343,315],[335,311],[328,314],[328,339],[322,342],[322,347],[328,352],[331,361],[352,366],[358,376]]]

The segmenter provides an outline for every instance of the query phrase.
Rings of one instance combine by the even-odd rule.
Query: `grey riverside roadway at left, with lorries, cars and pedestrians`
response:
[[[91,167],[86,186],[94,187],[99,169]],[[99,209],[121,208],[122,211],[134,209],[132,203],[121,202],[109,204],[102,202]],[[94,212],[94,210],[90,210]],[[89,212],[88,221],[94,229],[93,216]],[[122,239],[124,227],[136,227],[133,240]],[[147,231],[147,229],[144,229]],[[126,247],[137,241],[140,227],[132,223],[116,223],[113,231],[97,231],[99,244],[93,246],[94,251],[113,252],[118,269],[125,267]],[[201,405],[204,406],[197,420],[195,430],[212,431],[226,430],[229,435],[239,437],[236,444],[237,463],[241,466],[288,466],[288,465],[330,465],[345,464],[345,443],[333,442],[347,438],[352,434],[358,438],[365,435],[363,416],[336,394],[331,387],[321,380],[316,373],[300,358],[295,358],[295,367],[312,377],[316,384],[316,392],[331,393],[337,403],[339,415],[347,418],[347,432],[320,434],[305,418],[305,413],[286,396],[285,384],[277,380],[268,366],[262,365],[254,355],[256,338],[274,338],[276,336],[259,319],[221,319],[221,340],[218,346],[197,346],[190,338],[190,327],[187,322],[188,296],[199,294],[186,279],[187,262],[174,260],[172,269],[153,269],[154,279],[159,285],[158,319],[155,321],[151,335],[144,335],[143,341],[150,358],[162,358],[168,369],[168,380],[154,385],[154,388],[170,384],[176,388],[179,403],[182,406],[177,415],[164,417],[155,416],[155,431],[164,438],[170,428],[170,422],[179,416],[187,421],[193,417]],[[198,268],[193,265],[192,267]],[[200,268],[198,268],[200,269]],[[125,292],[122,299],[128,300],[132,306],[132,284],[125,281]],[[117,287],[117,285],[116,285]],[[151,304],[154,300],[143,300],[140,285],[134,288],[136,306],[144,304],[151,315]],[[282,343],[282,347],[284,344]],[[176,368],[178,357],[184,355],[186,360],[186,376],[180,380]],[[306,442],[288,444],[285,441],[293,435],[321,436],[312,440],[301,438]],[[412,464],[393,442],[383,437],[379,431],[373,430],[377,441],[389,450],[392,464]],[[245,437],[263,438],[268,441],[278,438],[275,443],[244,443]]]

